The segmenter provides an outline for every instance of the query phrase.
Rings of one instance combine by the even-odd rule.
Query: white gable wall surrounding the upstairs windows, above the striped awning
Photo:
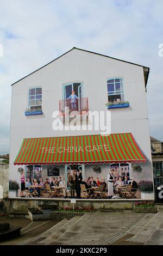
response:
[[[142,164],[148,179],[152,179],[151,146],[143,68],[120,60],[77,49],[66,53],[51,64],[27,76],[12,86],[10,178],[19,180],[18,166],[13,162],[23,138],[99,134],[100,131],[53,131],[52,113],[59,110],[63,84],[84,83],[84,97],[90,111],[108,111],[107,79],[123,78],[124,100],[129,108],[111,109],[111,133],[131,132],[147,157]],[[42,87],[42,115],[26,117],[28,89]]]

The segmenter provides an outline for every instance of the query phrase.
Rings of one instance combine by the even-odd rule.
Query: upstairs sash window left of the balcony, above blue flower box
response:
[[[41,110],[42,88],[29,89],[29,108],[33,111]]]

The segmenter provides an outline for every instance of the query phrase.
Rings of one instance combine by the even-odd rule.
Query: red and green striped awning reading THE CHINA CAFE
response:
[[[14,164],[146,162],[131,133],[23,139]]]

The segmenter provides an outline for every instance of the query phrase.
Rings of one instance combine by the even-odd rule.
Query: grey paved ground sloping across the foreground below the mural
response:
[[[137,214],[132,210],[98,210],[83,216],[65,218],[35,228],[37,222],[22,230],[21,245],[163,245],[163,209],[157,214]],[[40,222],[41,225],[41,222]],[[34,229],[32,229],[34,227]],[[41,228],[41,227],[39,227]],[[30,230],[30,231],[29,231]],[[37,234],[29,235],[34,230]],[[7,244],[15,244],[12,241]]]

